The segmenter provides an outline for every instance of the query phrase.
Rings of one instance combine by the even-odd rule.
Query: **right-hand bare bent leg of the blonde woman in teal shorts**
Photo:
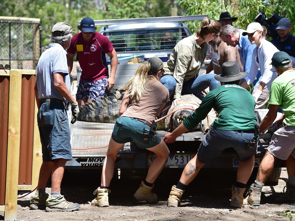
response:
[[[154,152],[157,157],[150,165],[150,168],[148,169],[148,175],[145,180],[149,183],[154,183],[160,172],[163,170],[170,152],[163,139],[161,140],[160,144],[148,148],[148,150]]]

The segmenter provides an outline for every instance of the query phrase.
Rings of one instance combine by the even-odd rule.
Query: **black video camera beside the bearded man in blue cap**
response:
[[[266,18],[266,15],[263,11],[260,11],[259,14],[255,17],[255,22],[260,23],[265,26],[267,29],[267,34],[273,39],[278,37],[278,32],[276,30],[277,23],[281,19],[278,14],[273,14],[269,19]]]

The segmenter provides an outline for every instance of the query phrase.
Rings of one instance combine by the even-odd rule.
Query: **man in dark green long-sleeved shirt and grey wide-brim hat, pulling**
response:
[[[255,101],[253,96],[239,85],[239,80],[247,74],[240,72],[237,62],[224,62],[222,74],[214,76],[216,80],[224,82],[224,85],[210,91],[193,114],[172,133],[165,135],[165,143],[173,143],[178,136],[193,129],[206,118],[212,108],[219,114],[210,131],[203,137],[198,153],[184,168],[178,184],[171,188],[168,206],[177,207],[186,186],[196,177],[199,170],[216,159],[224,149],[232,147],[237,152],[240,165],[237,170],[237,182],[232,186],[230,206],[242,207],[243,193],[252,172],[258,142],[258,136],[255,136],[255,130],[258,134]]]

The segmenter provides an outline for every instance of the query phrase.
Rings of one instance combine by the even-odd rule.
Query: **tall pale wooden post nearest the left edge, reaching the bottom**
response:
[[[11,70],[9,80],[9,116],[4,220],[16,220],[17,218],[21,86],[22,71]]]

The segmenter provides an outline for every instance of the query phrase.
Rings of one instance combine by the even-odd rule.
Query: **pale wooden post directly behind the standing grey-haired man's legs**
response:
[[[36,71],[37,72],[37,71]],[[36,101],[36,98],[35,98]],[[37,123],[38,107],[35,102],[34,113],[34,137],[33,137],[33,161],[32,161],[32,189],[38,185],[39,172],[42,165],[42,146],[40,141],[39,128]]]

